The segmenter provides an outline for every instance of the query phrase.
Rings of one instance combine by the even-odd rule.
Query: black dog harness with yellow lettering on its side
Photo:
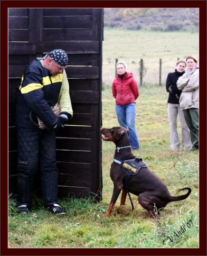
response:
[[[136,175],[140,168],[147,168],[147,165],[145,162],[143,162],[142,158],[129,159],[125,161],[114,158],[114,163],[121,166],[121,168],[125,171],[123,180],[123,188],[125,189],[128,188],[131,175]]]

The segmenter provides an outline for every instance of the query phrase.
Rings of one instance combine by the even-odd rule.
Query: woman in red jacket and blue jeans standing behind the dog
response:
[[[120,126],[129,131],[131,149],[139,149],[135,128],[136,103],[139,96],[138,84],[132,73],[126,71],[124,62],[117,62],[117,77],[112,83],[112,95],[116,99],[116,114]],[[127,145],[126,145],[127,146]]]

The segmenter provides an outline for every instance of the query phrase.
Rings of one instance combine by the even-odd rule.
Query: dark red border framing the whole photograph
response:
[[[183,249],[17,249],[7,248],[7,120],[8,120],[8,8],[200,8],[200,248]],[[187,40],[187,39],[186,39]],[[206,255],[206,1],[1,1],[1,252],[0,255]]]

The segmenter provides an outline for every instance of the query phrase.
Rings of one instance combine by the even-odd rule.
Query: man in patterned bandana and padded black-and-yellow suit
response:
[[[63,129],[73,115],[65,72],[67,63],[67,53],[62,49],[52,50],[42,59],[35,58],[25,69],[17,88],[17,208],[22,214],[31,208],[39,168],[45,207],[52,213],[65,214],[57,202],[55,130]],[[53,111],[55,104],[60,109],[58,115]]]

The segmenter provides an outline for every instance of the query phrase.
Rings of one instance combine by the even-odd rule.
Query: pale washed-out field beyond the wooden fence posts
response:
[[[177,58],[194,54],[199,58],[199,33],[115,30],[105,28],[103,41],[103,83],[111,84],[115,77],[116,58],[127,63],[138,83],[139,61],[142,58],[146,74],[143,83],[159,83],[159,59],[162,59],[162,84],[175,69]]]

